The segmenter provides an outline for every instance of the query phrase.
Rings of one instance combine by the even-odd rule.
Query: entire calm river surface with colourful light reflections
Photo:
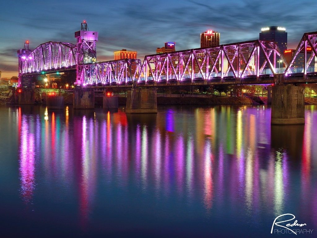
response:
[[[316,237],[305,109],[305,125],[271,126],[262,105],[0,106],[0,237]]]

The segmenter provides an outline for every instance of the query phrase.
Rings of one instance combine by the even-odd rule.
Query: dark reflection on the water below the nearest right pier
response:
[[[299,161],[302,156],[305,125],[271,125],[271,147],[285,150],[290,160]]]

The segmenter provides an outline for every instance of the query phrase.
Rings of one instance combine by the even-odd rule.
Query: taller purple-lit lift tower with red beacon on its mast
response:
[[[96,42],[98,32],[89,31],[87,23],[81,23],[81,30],[75,32],[77,39],[77,84],[97,83]]]

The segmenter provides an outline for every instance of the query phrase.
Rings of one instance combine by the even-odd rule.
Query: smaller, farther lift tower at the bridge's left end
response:
[[[31,77],[23,76],[23,66],[28,64],[30,58],[31,50],[29,50],[29,41],[24,43],[24,48],[17,51],[17,55],[19,58],[19,81],[18,86],[23,88],[31,88]],[[26,68],[26,67],[25,67]]]

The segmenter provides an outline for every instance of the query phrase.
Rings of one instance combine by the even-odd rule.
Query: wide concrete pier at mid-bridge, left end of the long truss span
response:
[[[156,89],[128,90],[126,113],[158,113]]]

